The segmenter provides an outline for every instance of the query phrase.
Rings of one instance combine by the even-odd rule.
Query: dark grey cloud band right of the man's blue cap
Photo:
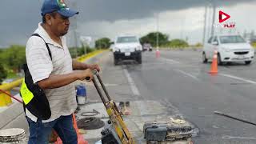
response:
[[[250,1],[252,0],[72,0],[70,2],[77,3],[78,10],[81,12],[79,19],[82,21],[106,20],[112,22],[117,19],[146,18],[166,10],[205,6],[209,2],[214,2],[216,6],[232,6],[240,2]]]

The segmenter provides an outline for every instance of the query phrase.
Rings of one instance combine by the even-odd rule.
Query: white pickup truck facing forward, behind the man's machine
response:
[[[115,38],[112,47],[114,54],[114,65],[119,61],[132,59],[142,64],[142,45],[136,36],[120,36]]]

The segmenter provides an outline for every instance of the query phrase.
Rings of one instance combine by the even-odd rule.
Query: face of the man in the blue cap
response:
[[[54,30],[55,34],[58,34],[59,36],[65,35],[70,27],[70,20],[67,17],[62,16],[61,14],[54,14],[54,16],[51,16],[51,26],[52,30]]]

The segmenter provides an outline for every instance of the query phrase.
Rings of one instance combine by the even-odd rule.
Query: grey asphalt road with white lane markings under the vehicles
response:
[[[256,122],[256,64],[233,63],[208,74],[200,51],[144,52],[142,65],[124,62],[114,66],[110,52],[95,59],[102,78],[116,101],[153,100],[170,108],[170,114],[195,126],[194,143],[256,143],[256,126],[214,114],[214,110]],[[90,101],[99,101],[89,84]],[[96,94],[96,95],[95,95]]]

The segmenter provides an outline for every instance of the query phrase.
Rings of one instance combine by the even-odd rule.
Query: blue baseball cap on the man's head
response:
[[[54,11],[57,11],[58,14],[61,14],[64,17],[72,17],[79,13],[76,10],[70,10],[70,8],[66,6],[64,0],[45,0],[42,4],[42,15],[49,14]]]

